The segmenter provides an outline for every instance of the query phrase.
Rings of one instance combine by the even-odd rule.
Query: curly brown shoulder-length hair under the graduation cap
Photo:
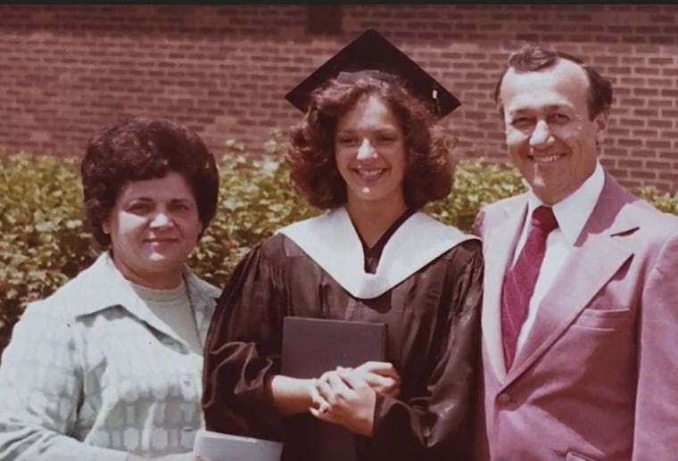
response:
[[[403,195],[409,209],[447,197],[455,167],[451,139],[435,128],[433,111],[400,78],[376,70],[343,72],[311,94],[308,111],[290,130],[285,154],[297,192],[319,209],[346,203],[346,184],[335,161],[336,122],[368,95],[380,98],[400,122],[407,152]]]

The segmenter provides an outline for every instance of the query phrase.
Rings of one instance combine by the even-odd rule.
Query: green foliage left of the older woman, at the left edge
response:
[[[26,301],[95,258],[81,202],[75,160],[0,157],[0,349]]]

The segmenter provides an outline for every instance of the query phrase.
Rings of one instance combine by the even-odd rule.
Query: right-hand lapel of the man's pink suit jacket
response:
[[[624,220],[621,213],[624,205],[633,200],[636,200],[635,197],[606,175],[591,217],[556,281],[544,296],[505,385],[523,374],[558,340],[624,261],[633,255],[633,247],[626,242],[624,235],[633,234],[638,225]]]

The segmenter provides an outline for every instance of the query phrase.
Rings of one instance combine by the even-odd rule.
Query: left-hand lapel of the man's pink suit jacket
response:
[[[510,202],[502,212],[500,220],[488,226],[487,232],[483,235],[485,288],[482,314],[483,336],[488,357],[494,374],[500,381],[506,376],[501,342],[501,285],[525,220],[527,202],[525,200]]]

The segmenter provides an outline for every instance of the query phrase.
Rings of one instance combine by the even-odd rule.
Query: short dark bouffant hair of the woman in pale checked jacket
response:
[[[122,119],[91,139],[80,164],[85,212],[98,243],[111,236],[102,224],[129,181],[180,174],[191,188],[203,232],[217,209],[219,173],[214,156],[189,128],[170,119],[145,116]]]

